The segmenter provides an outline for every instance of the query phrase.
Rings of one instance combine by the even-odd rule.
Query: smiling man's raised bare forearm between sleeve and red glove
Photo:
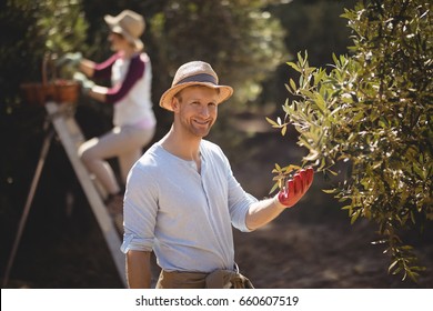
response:
[[[246,227],[255,230],[275,219],[284,209],[276,198],[255,202],[246,213]]]

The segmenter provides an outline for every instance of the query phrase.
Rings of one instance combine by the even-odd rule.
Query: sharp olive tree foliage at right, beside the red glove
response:
[[[424,268],[401,232],[433,220],[432,22],[422,0],[360,1],[343,14],[353,30],[352,56],[334,56],[329,68],[310,67],[308,53],[289,66],[294,100],[284,120],[269,120],[285,133],[289,123],[309,150],[303,164],[325,175],[345,163],[333,193],[351,222],[375,221],[390,273],[416,281]],[[279,172],[284,171],[284,168]]]

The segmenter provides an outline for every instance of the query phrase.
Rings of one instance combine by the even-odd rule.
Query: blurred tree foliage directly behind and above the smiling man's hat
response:
[[[284,31],[264,10],[271,2],[165,1],[150,20],[163,72],[171,81],[179,64],[201,59],[214,67],[222,83],[234,87],[240,104],[255,99],[260,81],[275,69],[284,53]]]

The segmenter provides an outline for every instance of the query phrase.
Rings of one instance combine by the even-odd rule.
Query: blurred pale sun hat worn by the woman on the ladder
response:
[[[112,32],[122,34],[138,50],[143,49],[144,44],[140,40],[140,36],[144,32],[145,21],[142,16],[131,10],[124,10],[117,17],[105,16],[103,19]]]

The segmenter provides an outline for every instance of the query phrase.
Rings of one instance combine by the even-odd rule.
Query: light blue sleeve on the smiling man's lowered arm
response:
[[[121,251],[152,251],[158,213],[158,184],[140,162],[131,169],[124,194],[124,234]]]

